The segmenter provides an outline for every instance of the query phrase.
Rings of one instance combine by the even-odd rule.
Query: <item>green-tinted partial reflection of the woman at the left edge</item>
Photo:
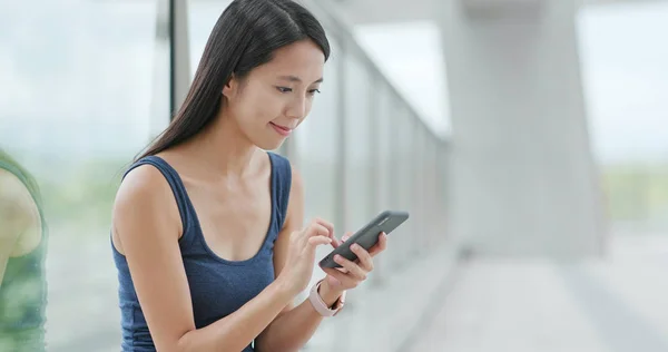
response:
[[[0,149],[0,351],[43,351],[46,226],[32,177]]]

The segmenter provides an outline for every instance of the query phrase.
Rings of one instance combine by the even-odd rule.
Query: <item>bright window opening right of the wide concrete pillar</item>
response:
[[[668,3],[578,12],[592,149],[613,233],[668,231]]]

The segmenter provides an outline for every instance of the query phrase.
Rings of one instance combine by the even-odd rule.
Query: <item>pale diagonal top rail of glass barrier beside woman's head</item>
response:
[[[311,10],[317,19],[323,22],[324,27],[327,27],[334,30],[334,37],[338,38],[342,42],[344,42],[345,49],[351,49],[353,55],[361,59],[367,69],[375,76],[376,79],[381,80],[387,88],[390,88],[391,94],[393,94],[400,102],[402,102],[407,109],[410,115],[418,120],[418,123],[423,127],[432,137],[434,137],[440,144],[446,144],[446,136],[440,136],[436,134],[425,121],[422,119],[413,105],[409,102],[404,95],[400,92],[400,90],[390,81],[390,79],[385,76],[385,74],[381,70],[381,68],[373,61],[373,59],[366,53],[364,48],[360,46],[355,36],[351,32],[351,28],[353,25],[346,20],[346,17],[342,13],[342,11],[336,8],[336,6],[332,6],[327,2],[328,0],[301,0],[303,4],[305,4],[308,10]]]

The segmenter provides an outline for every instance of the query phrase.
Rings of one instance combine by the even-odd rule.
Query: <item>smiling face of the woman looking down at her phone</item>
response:
[[[225,115],[257,147],[278,148],[311,111],[324,65],[323,51],[311,40],[276,50],[272,61],[225,86]]]

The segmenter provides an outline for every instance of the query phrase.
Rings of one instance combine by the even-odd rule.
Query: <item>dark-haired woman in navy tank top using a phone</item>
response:
[[[184,105],[126,173],[114,206],[124,351],[297,351],[373,270],[327,270],[310,299],[315,247],[302,178],[277,148],[303,121],[330,45],[287,0],[235,0],[213,29]]]

